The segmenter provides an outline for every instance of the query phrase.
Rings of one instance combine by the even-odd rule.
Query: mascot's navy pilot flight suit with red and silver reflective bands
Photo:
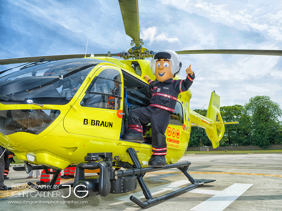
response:
[[[174,113],[179,93],[187,91],[192,85],[195,74],[187,75],[185,80],[170,78],[164,82],[149,80],[152,91],[150,106],[133,109],[129,112],[128,131],[143,133],[142,124],[151,122],[152,154],[166,155],[166,128],[170,115]]]

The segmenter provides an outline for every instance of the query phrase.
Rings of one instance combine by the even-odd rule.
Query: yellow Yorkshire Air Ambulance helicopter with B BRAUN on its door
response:
[[[116,163],[120,160],[125,163],[133,161],[136,168],[146,168],[151,156],[150,124],[143,127],[143,142],[122,140],[121,137],[128,128],[128,112],[149,106],[151,93],[143,76],[148,75],[155,80],[150,61],[145,60],[153,57],[155,52],[142,46],[138,1],[119,0],[119,4],[125,32],[132,38],[131,46],[135,44],[128,51],[0,60],[0,64],[30,62],[16,72],[0,73],[3,74],[0,77],[0,145],[14,152],[19,160],[59,170],[78,164],[76,170],[79,171],[81,163],[87,165],[85,161],[98,161],[103,157],[101,154],[92,159],[95,153],[105,153],[104,160],[110,162],[110,156],[106,153],[111,152],[112,156],[118,156]],[[281,55],[278,50],[187,50],[176,53]],[[176,76],[175,79],[180,77]],[[175,112],[171,114],[165,134],[168,165],[184,155],[191,127],[204,128],[213,148],[216,148],[224,134],[224,124],[237,123],[222,121],[220,97],[215,92],[211,92],[207,116],[189,108],[190,98],[190,89],[180,93]],[[138,160],[132,158],[135,152],[131,149],[135,150]],[[88,155],[90,160],[84,157],[87,153],[92,153]],[[98,164],[95,167],[87,166],[106,171]],[[130,165],[124,166],[130,169]],[[125,175],[118,171],[115,174],[115,179]],[[101,177],[104,178],[105,174]],[[83,176],[78,176],[75,184],[81,178]],[[106,187],[107,183],[104,185]],[[103,188],[98,189],[101,191]]]

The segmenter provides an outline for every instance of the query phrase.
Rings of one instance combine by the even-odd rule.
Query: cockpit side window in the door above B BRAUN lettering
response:
[[[121,102],[121,77],[116,69],[104,69],[88,87],[80,105],[118,110]]]

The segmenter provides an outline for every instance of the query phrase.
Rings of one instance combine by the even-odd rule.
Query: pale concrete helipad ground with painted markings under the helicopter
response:
[[[146,210],[282,210],[282,154],[193,154],[184,156],[180,161],[192,163],[189,171],[193,178],[216,179],[216,181]],[[5,180],[5,185],[10,187],[27,184],[28,181],[38,181],[34,178],[25,179],[27,177],[25,172],[13,170],[10,171],[9,177],[9,180]],[[148,173],[144,180],[151,193],[156,193],[154,196],[185,187],[185,183],[188,182],[178,169]],[[62,180],[62,182],[70,181]],[[25,192],[32,191],[34,189],[25,190]],[[1,191],[1,199],[7,200],[0,200],[0,210],[135,211],[141,209],[131,202],[129,197],[135,195],[144,201],[142,191],[140,191],[141,188],[137,185],[136,190],[128,193],[109,194],[107,197],[94,196],[89,199],[79,199],[73,192],[67,198],[61,197],[69,194],[68,188],[58,190],[60,197],[58,194],[54,194],[53,197],[50,194],[47,197],[40,197],[37,192],[33,192],[28,196],[18,196],[15,193],[15,196],[3,198],[7,192]],[[39,201],[42,202],[39,204]]]

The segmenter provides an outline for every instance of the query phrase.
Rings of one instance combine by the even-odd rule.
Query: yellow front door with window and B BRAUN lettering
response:
[[[120,138],[123,76],[119,68],[103,66],[89,81],[64,119],[68,133],[103,139]]]

